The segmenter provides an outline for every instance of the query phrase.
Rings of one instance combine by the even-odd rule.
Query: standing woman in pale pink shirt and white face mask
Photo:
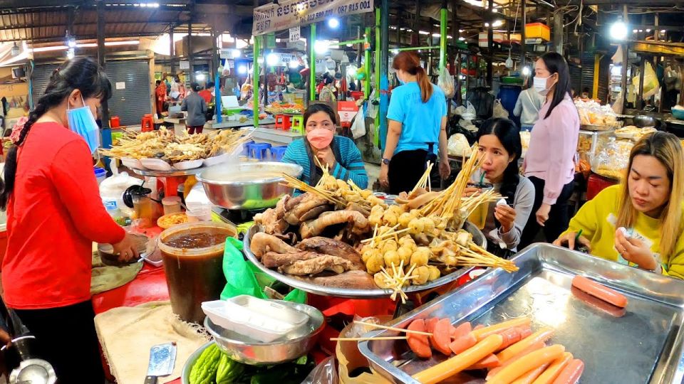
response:
[[[522,233],[526,247],[544,230],[553,241],[568,228],[568,199],[575,176],[579,114],[570,97],[568,63],[558,53],[545,53],[534,65],[534,89],[545,98],[532,128],[524,174],[534,184],[532,215]]]

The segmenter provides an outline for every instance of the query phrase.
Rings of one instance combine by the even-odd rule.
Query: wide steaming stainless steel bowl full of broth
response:
[[[214,166],[196,177],[214,205],[256,210],[274,207],[282,196],[292,193],[293,188],[281,184],[285,179],[281,174],[299,177],[303,171],[301,166],[289,163],[240,163]],[[237,175],[249,175],[249,179]]]

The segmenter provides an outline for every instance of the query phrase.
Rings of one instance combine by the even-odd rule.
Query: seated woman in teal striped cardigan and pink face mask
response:
[[[306,137],[291,142],[282,161],[304,168],[299,179],[310,186],[315,186],[323,176],[321,166],[327,166],[335,178],[351,180],[359,188],[366,188],[368,174],[361,152],[351,139],[335,134],[336,122],[336,113],[329,105],[309,105],[304,112]]]

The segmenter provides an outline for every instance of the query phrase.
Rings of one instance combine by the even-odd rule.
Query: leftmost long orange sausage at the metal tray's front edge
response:
[[[504,340],[501,335],[494,334],[488,336],[487,338],[484,338],[484,340],[475,344],[475,346],[472,346],[472,348],[468,348],[463,353],[453,356],[452,358],[448,358],[436,366],[432,366],[426,370],[416,373],[413,375],[413,378],[422,384],[439,383],[440,381],[467,369],[468,367],[488,356],[490,353],[493,353],[497,348],[499,348],[503,341]]]

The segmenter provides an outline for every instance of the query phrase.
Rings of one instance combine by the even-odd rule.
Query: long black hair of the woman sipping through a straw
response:
[[[499,188],[499,193],[506,197],[509,203],[512,203],[520,181],[518,159],[522,156],[522,143],[520,142],[519,129],[511,120],[498,117],[496,119],[487,119],[487,121],[482,123],[477,131],[477,140],[479,141],[480,137],[485,134],[496,136],[509,156],[514,156],[514,159],[504,169],[504,178],[501,182],[501,188]]]

